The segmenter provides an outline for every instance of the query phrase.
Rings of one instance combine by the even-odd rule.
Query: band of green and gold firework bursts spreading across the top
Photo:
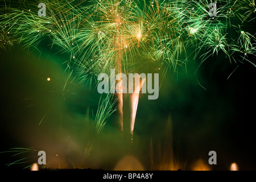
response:
[[[255,3],[219,2],[224,6],[218,9],[215,20],[208,16],[207,1],[165,1],[160,5],[153,2],[155,6],[152,7],[144,1],[138,5],[133,1],[97,1],[90,2],[86,7],[55,1],[46,2],[49,15],[44,18],[32,11],[9,7],[9,13],[1,15],[2,35],[9,33],[9,38],[18,38],[17,41],[23,42],[26,47],[35,47],[42,37],[49,36],[53,44],[70,52],[71,58],[77,56],[76,60],[71,59],[78,62],[77,67],[85,62],[88,70],[97,71],[95,74],[109,71],[120,51],[122,63],[126,63],[123,65],[132,65],[139,57],[135,55],[148,57],[147,53],[151,52],[155,58],[162,58],[175,68],[180,53],[191,46],[197,53],[202,48],[215,47],[212,54],[222,49],[232,55],[224,47],[236,44],[222,42],[224,31],[231,25],[237,28],[238,24],[229,23],[232,16],[240,17],[241,23],[254,19],[249,18],[255,13]],[[243,11],[245,13],[241,13]],[[245,35],[255,39],[249,32]],[[201,40],[200,43],[198,40]],[[216,45],[216,41],[220,46]],[[237,45],[243,44],[238,42]],[[90,63],[89,57],[97,59]]]

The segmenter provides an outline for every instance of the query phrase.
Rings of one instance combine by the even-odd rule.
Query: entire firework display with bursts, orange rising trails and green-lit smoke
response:
[[[256,6],[253,0],[3,2],[0,6],[1,85],[5,86],[3,90],[13,91],[1,91],[1,94],[5,97],[8,93],[11,97],[15,92],[15,86],[8,88],[3,81],[9,70],[21,70],[17,78],[27,75],[28,80],[23,84],[26,89],[22,87],[15,96],[18,101],[12,103],[18,113],[23,113],[18,126],[23,125],[23,120],[26,120],[24,125],[29,125],[23,125],[26,128],[23,133],[19,131],[27,133],[24,139],[13,137],[14,144],[22,145],[20,148],[9,144],[3,147],[5,151],[1,151],[0,158],[7,154],[15,158],[3,166],[106,170],[255,169],[250,168],[250,164],[247,168],[246,164],[240,167],[239,163],[234,163],[236,159],[226,159],[228,166],[223,164],[225,167],[218,167],[216,161],[210,163],[215,160],[209,159],[210,156],[221,155],[217,150],[221,147],[214,149],[213,145],[210,150],[210,143],[201,150],[204,157],[190,156],[185,162],[184,153],[179,150],[183,148],[184,152],[187,147],[180,146],[176,148],[178,152],[174,151],[174,143],[176,146],[182,138],[195,137],[196,141],[201,141],[206,133],[212,136],[212,131],[218,129],[221,133],[225,125],[233,126],[226,119],[226,115],[236,118],[234,113],[239,110],[231,107],[231,100],[235,103],[232,94],[222,101],[225,96],[216,91],[218,88],[210,86],[214,85],[212,82],[207,84],[207,79],[215,76],[214,79],[227,82],[242,69],[246,74],[250,72],[250,79],[254,81]],[[15,61],[8,61],[11,59]],[[225,77],[214,74],[204,77],[216,70]],[[134,75],[129,75],[131,73]],[[113,77],[113,74],[119,76]],[[103,78],[108,80],[106,85],[101,84]],[[223,81],[220,82],[219,86],[225,88],[221,85]],[[101,92],[97,92],[99,85]],[[232,86],[226,90],[233,92],[230,90],[240,87]],[[134,88],[133,92],[127,92],[130,88]],[[156,94],[156,90],[157,97],[147,99]],[[216,93],[216,98],[210,99],[212,92]],[[244,103],[249,100],[245,99]],[[203,103],[209,101],[212,104],[204,106]],[[17,104],[20,102],[22,104]],[[192,104],[195,102],[200,105],[198,108]],[[215,102],[218,105],[214,105]],[[205,113],[199,111],[207,107],[210,109]],[[21,108],[26,111],[20,111]],[[177,108],[181,109],[171,117]],[[24,114],[29,109],[31,113]],[[137,117],[137,114],[141,115]],[[186,122],[189,117],[189,126],[196,129],[188,134],[185,130],[188,125],[177,123]],[[1,122],[8,118],[12,117],[3,114]],[[11,123],[16,119],[14,117]],[[201,119],[201,127],[192,122],[197,119]],[[219,122],[212,126],[214,119]],[[210,129],[211,126],[214,129]],[[5,123],[1,127],[10,126]],[[199,128],[201,133],[197,131]],[[6,134],[12,132],[8,129]],[[30,141],[29,138],[37,134],[37,142]],[[56,143],[59,144],[56,146]],[[255,151],[255,147],[250,150]],[[36,166],[38,151],[46,151],[46,164]],[[240,153],[243,154],[238,152],[234,156]],[[195,162],[198,157],[199,162]],[[192,167],[187,165],[189,162]],[[135,167],[131,163],[136,164]]]

